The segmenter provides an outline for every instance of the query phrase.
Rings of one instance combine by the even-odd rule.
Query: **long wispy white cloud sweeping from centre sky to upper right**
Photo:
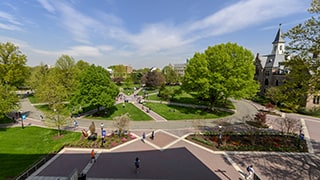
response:
[[[140,55],[159,51],[170,53],[180,46],[193,44],[200,39],[228,34],[271,19],[305,11],[303,5],[300,0],[278,0],[276,3],[242,0],[197,21],[182,24],[146,24],[138,34],[114,27],[117,33],[111,34],[112,38],[125,43],[127,50],[134,50]]]

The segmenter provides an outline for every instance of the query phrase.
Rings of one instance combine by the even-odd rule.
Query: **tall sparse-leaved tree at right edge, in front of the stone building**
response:
[[[312,0],[308,12],[312,14],[308,20],[284,33],[290,39],[286,51],[291,56],[284,88],[291,94],[287,103],[295,107],[304,107],[307,95],[320,89],[320,1]]]

